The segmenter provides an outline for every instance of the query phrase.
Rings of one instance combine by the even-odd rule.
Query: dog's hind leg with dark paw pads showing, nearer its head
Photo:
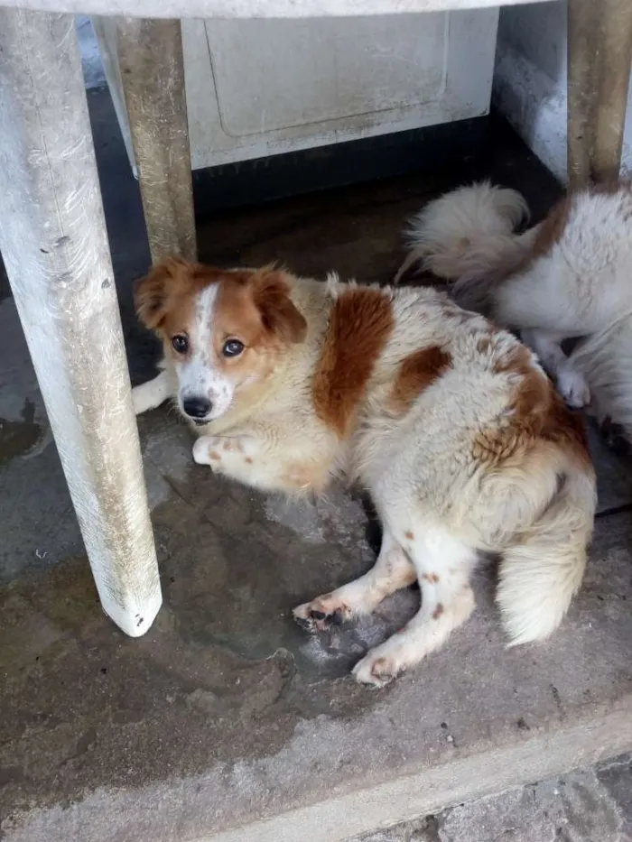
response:
[[[301,625],[322,631],[354,615],[370,614],[385,597],[412,585],[415,578],[413,564],[393,535],[385,530],[373,569],[349,585],[294,608],[293,615]]]

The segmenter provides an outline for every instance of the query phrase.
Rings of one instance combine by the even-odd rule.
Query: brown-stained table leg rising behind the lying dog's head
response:
[[[197,256],[180,21],[120,18],[116,40],[153,261]]]

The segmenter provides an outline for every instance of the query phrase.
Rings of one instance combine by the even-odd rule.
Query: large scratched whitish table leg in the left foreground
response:
[[[101,604],[162,597],[74,18],[0,8],[0,250]]]

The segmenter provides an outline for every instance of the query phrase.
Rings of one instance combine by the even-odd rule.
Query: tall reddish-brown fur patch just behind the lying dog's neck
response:
[[[333,303],[311,391],[316,414],[341,438],[351,431],[394,323],[390,299],[375,288],[352,287]]]

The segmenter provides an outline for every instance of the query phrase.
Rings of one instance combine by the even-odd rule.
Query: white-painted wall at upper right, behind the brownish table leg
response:
[[[599,2],[599,0],[595,0]],[[534,153],[566,181],[566,2],[500,10],[493,101]],[[632,88],[622,170],[632,171]]]

